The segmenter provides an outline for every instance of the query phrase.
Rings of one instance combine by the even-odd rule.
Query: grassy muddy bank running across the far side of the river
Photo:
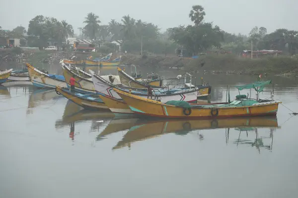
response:
[[[0,59],[3,59],[1,68],[9,67],[13,64],[30,62],[36,63],[58,63],[62,58],[73,55],[73,52],[25,52],[16,55],[11,52],[0,51]],[[84,59],[90,54],[74,54],[79,59]],[[99,54],[92,53],[93,57]],[[120,55],[120,54],[117,54]],[[122,56],[121,64],[134,64],[141,67],[157,67],[163,69],[177,69],[182,71],[194,71],[205,73],[238,74],[238,75],[266,75],[295,76],[298,77],[298,59],[286,56],[264,57],[264,58],[243,58],[236,55],[204,55],[198,59],[183,58],[172,54],[147,56],[137,54],[127,54]]]

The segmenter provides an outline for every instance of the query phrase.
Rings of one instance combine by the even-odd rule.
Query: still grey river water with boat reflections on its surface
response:
[[[227,85],[256,79],[201,76],[213,86],[212,101],[225,101]],[[272,80],[275,99],[298,112],[297,79]],[[277,117],[218,120],[216,127],[116,119],[81,111],[54,91],[0,87],[0,197],[297,198],[298,117],[289,113],[280,105]]]

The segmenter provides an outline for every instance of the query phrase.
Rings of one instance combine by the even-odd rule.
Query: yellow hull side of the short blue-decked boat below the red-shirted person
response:
[[[61,94],[65,98],[73,101],[74,103],[76,103],[77,105],[83,107],[84,109],[88,109],[88,110],[109,110],[109,108],[107,107],[107,105],[105,105],[105,103],[103,101],[99,102],[99,101],[92,101],[92,100],[89,100],[89,99],[83,99],[81,97],[77,97],[76,95],[72,94],[69,91],[65,91],[64,89],[61,88],[60,86],[57,86],[56,87],[56,93],[58,95]]]

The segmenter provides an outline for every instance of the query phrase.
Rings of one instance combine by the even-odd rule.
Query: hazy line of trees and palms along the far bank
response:
[[[115,50],[107,41],[121,40],[121,49],[138,52],[143,42],[143,50],[152,53],[175,53],[175,49],[184,49],[187,55],[196,55],[211,49],[242,52],[250,49],[279,49],[289,54],[298,50],[298,31],[277,29],[267,34],[265,27],[254,27],[246,35],[230,34],[211,22],[205,22],[206,12],[201,5],[194,5],[188,14],[193,25],[168,28],[165,32],[149,22],[136,20],[130,15],[123,16],[120,22],[111,19],[102,24],[98,15],[90,12],[82,20],[84,27],[78,28],[80,39],[89,39],[93,43],[104,44],[105,52]],[[0,28],[0,36],[20,38],[21,45],[46,47],[47,41],[66,42],[74,36],[74,29],[65,20],[38,15],[30,20],[28,29],[18,26],[11,31]],[[102,46],[102,45],[101,45]]]

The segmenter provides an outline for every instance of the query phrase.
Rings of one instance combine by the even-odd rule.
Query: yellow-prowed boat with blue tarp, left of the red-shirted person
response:
[[[65,78],[62,75],[46,74],[34,68],[31,64],[26,63],[29,71],[29,79],[37,88],[53,88],[57,85],[66,87]]]

